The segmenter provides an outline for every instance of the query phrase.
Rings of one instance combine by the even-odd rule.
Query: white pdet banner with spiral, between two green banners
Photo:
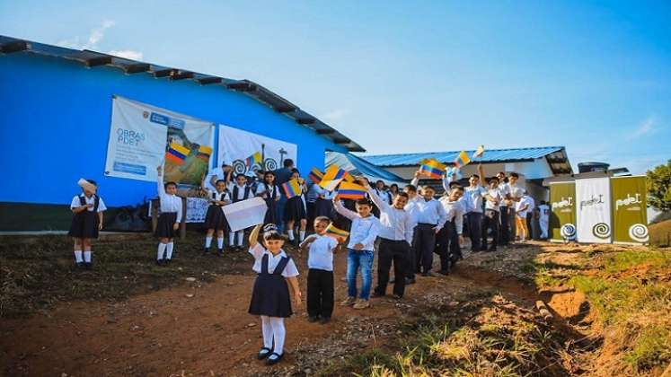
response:
[[[576,205],[578,242],[610,243],[613,236],[610,179],[576,180]]]

